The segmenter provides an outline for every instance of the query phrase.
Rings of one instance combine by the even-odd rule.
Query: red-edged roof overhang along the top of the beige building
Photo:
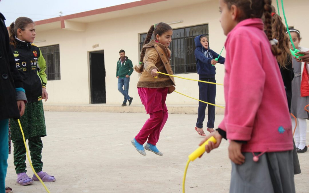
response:
[[[209,1],[209,0],[207,0]],[[196,3],[205,3],[205,0],[142,0],[121,5],[105,7],[81,13],[65,15],[61,17],[36,21],[36,31],[53,29],[67,29],[73,31],[85,31],[86,24],[128,17],[131,15],[147,14],[158,10],[172,10],[172,8]]]

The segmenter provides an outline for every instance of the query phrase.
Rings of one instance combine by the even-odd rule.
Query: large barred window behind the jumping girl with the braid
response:
[[[172,42],[169,48],[171,50],[171,67],[174,74],[197,72],[194,38],[202,34],[208,38],[208,24],[173,29]],[[146,36],[147,33],[140,34],[140,51]]]

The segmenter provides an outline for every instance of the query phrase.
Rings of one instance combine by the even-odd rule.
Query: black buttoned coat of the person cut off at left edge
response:
[[[0,120],[19,119],[15,88],[23,87],[23,83],[16,69],[4,20],[4,16],[0,13]]]

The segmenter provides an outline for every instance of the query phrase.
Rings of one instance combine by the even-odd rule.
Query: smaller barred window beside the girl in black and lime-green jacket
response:
[[[60,54],[59,44],[40,47],[42,55],[46,61],[47,80],[60,80]]]

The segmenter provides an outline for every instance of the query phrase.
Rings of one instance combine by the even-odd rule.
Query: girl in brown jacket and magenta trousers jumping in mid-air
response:
[[[150,41],[152,34],[154,34],[155,40]],[[152,25],[141,51],[140,64],[142,65],[134,68],[138,73],[142,73],[137,83],[138,94],[150,118],[146,120],[146,123],[131,143],[138,153],[144,156],[146,155],[145,149],[157,155],[163,155],[157,149],[156,143],[168,117],[165,104],[166,96],[167,93],[172,93],[175,90],[175,81],[171,76],[158,75],[156,72],[173,75],[170,65],[171,51],[168,48],[171,44],[172,34],[171,26],[166,23],[160,22]],[[146,141],[144,149],[143,144]]]

